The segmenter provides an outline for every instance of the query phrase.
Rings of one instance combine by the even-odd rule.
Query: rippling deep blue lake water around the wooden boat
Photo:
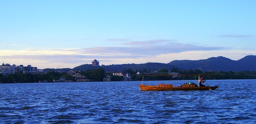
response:
[[[0,84],[0,122],[256,123],[256,80],[206,82],[219,88],[141,91],[141,81]]]

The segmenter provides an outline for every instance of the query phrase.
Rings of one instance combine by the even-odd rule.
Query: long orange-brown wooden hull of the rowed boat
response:
[[[139,84],[139,87],[141,90],[214,90],[218,88],[219,86],[214,87],[159,87],[159,86],[153,86],[153,85],[142,85]]]

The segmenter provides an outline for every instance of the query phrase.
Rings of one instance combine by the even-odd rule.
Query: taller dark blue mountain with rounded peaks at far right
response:
[[[172,66],[188,69],[201,69],[201,71],[256,71],[256,56],[245,56],[239,60],[231,60],[225,57],[212,57],[203,60],[174,60],[168,63]]]

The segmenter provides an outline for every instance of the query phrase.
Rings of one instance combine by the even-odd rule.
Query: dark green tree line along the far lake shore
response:
[[[131,81],[142,81],[142,76],[136,75],[136,71],[133,71],[132,69],[123,69],[123,71],[129,72],[131,74]],[[147,71],[147,69],[143,69],[142,71],[150,73],[150,70]],[[123,81],[122,76],[118,75],[113,75],[111,72],[106,72],[102,68],[98,69],[89,69],[87,71],[76,71],[76,73],[80,73],[86,77],[88,77],[90,80],[93,81],[103,81],[106,76],[111,76],[110,81]],[[157,73],[168,73],[169,71],[167,69],[162,69],[159,70]],[[144,78],[144,81],[157,81],[157,80],[198,80],[198,76],[193,76],[192,74],[215,74],[215,75],[210,75],[210,76],[204,76],[204,79],[207,80],[227,80],[227,79],[232,79],[232,80],[238,80],[238,79],[256,79],[256,72],[255,71],[240,71],[240,72],[202,72],[199,69],[195,70],[185,70],[182,71],[180,69],[175,69],[171,70],[171,72],[176,72],[179,74],[191,74],[191,76],[178,76],[178,77],[172,77],[172,75],[168,76],[147,76]],[[0,74],[0,81],[1,83],[34,83],[34,82],[54,82],[54,81],[59,81],[61,78],[68,80],[68,81],[73,81],[76,82],[75,77],[72,75],[69,75],[68,73],[59,73],[55,71],[50,71],[45,74],[29,74],[29,73],[16,73],[16,74],[8,74],[6,76]]]

